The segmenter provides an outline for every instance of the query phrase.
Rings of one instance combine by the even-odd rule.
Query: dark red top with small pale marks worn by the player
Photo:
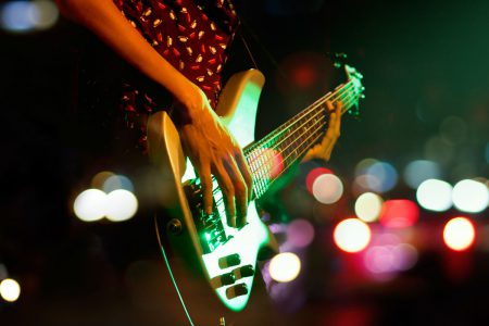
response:
[[[166,61],[205,92],[215,109],[226,50],[238,26],[230,1],[114,0],[114,3]],[[125,84],[124,89],[121,108],[127,125],[139,128],[139,145],[146,149],[148,115],[168,108],[161,106],[135,85]]]

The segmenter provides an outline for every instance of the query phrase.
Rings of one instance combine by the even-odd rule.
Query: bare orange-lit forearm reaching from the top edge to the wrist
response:
[[[185,90],[191,83],[148,43],[112,0],[57,2],[64,15],[86,26],[129,64],[185,101]]]

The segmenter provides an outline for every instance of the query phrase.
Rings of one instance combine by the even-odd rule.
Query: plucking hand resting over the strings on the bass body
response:
[[[184,151],[201,180],[204,212],[212,214],[213,174],[223,192],[228,225],[243,226],[252,190],[251,172],[243,153],[212,110],[205,93],[193,84],[185,93],[174,110],[187,114],[179,134]]]

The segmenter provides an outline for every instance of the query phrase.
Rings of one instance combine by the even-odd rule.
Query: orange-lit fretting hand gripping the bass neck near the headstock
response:
[[[325,161],[329,161],[331,156],[333,149],[335,148],[336,141],[340,136],[340,126],[341,126],[341,102],[337,102],[336,108],[333,105],[330,101],[326,102],[326,105],[329,110],[329,126],[324,135],[323,139],[319,143],[315,145],[312,149],[310,149],[302,162],[306,162],[314,159],[322,159]]]

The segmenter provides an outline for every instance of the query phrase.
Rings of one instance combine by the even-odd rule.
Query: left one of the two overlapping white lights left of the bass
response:
[[[99,189],[87,189],[76,197],[73,210],[79,220],[93,222],[105,215],[105,192]]]

